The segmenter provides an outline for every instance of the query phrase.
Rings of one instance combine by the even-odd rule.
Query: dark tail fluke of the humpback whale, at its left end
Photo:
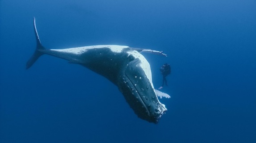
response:
[[[38,33],[37,33],[37,27],[36,27],[36,19],[34,17],[34,32],[36,35],[36,39],[37,39],[37,48],[34,52],[34,54],[32,55],[32,57],[30,57],[29,61],[27,62],[26,65],[26,69],[29,69],[36,61],[37,59],[43,55],[44,53],[42,53],[40,50],[45,49],[42,45],[41,45],[41,41],[39,39]]]

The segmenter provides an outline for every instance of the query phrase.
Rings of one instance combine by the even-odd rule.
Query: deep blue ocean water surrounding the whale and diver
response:
[[[172,67],[160,123],[137,118],[118,88],[80,65],[44,55],[128,45],[155,87]],[[0,0],[0,143],[256,143],[255,0]]]

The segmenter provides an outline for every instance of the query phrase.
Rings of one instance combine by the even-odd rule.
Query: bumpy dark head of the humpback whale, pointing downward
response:
[[[167,109],[157,98],[149,62],[137,51],[128,53],[130,60],[120,71],[117,86],[139,118],[158,123]]]

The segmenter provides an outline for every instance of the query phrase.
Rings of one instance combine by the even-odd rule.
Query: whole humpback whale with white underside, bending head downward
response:
[[[149,62],[141,52],[166,56],[162,51],[132,48],[123,45],[93,45],[69,49],[45,49],[39,39],[36,20],[33,20],[37,46],[26,69],[29,69],[37,59],[51,55],[85,66],[88,69],[107,78],[115,84],[132,110],[141,119],[150,123],[158,123],[166,108],[157,95],[169,98],[168,94],[155,90]]]

